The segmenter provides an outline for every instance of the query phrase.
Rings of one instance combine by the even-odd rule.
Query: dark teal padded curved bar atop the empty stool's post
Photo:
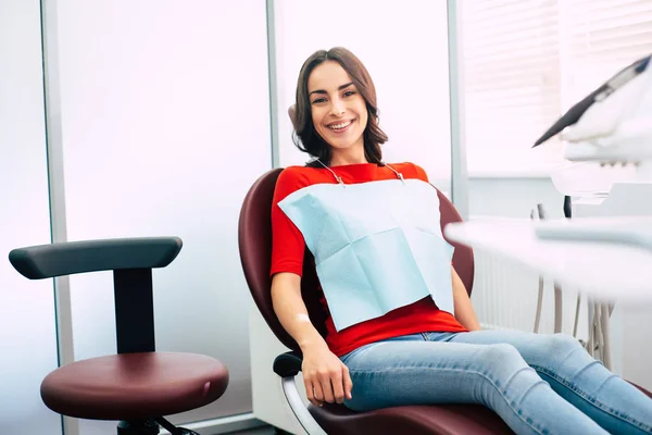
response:
[[[84,272],[165,268],[181,250],[178,237],[64,241],[17,248],[9,261],[29,279]]]

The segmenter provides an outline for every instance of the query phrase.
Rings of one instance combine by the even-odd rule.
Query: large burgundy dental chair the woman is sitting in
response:
[[[368,412],[354,412],[338,403],[314,407],[303,403],[294,376],[301,371],[302,356],[299,346],[284,330],[272,306],[269,268],[272,262],[272,199],[276,179],[283,169],[262,175],[250,188],[239,220],[239,248],[244,277],[251,295],[276,337],[288,348],[279,355],[272,368],[280,377],[283,390],[299,423],[306,433],[333,435],[364,434],[511,434],[507,425],[488,408],[478,405],[406,406],[386,408]],[[453,204],[439,192],[441,226],[461,221]],[[457,274],[471,294],[474,276],[473,251],[465,246],[455,246],[453,262]],[[301,293],[310,319],[322,335],[325,335],[325,315],[317,298],[317,277],[314,259],[305,250]]]

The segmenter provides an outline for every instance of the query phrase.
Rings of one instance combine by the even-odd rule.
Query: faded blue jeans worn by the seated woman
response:
[[[652,399],[573,337],[514,331],[424,333],[343,356],[354,411],[480,403],[517,434],[652,434]]]

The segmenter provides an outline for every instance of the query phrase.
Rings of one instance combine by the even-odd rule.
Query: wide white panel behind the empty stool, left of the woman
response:
[[[251,411],[237,220],[271,169],[265,16],[263,0],[58,0],[68,239],[179,236],[154,271],[156,348],[230,373],[225,396],[176,422]],[[114,353],[111,274],[73,276],[71,293],[75,359]]]

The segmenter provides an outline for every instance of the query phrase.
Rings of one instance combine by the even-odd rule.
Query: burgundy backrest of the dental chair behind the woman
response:
[[[272,200],[276,181],[281,171],[280,167],[268,171],[256,179],[249,189],[240,210],[238,244],[244,278],[255,304],[278,339],[288,348],[298,350],[297,343],[285,331],[272,306],[272,279],[269,278],[272,264]],[[439,196],[441,228],[443,231],[447,224],[460,222],[462,217],[446,196],[439,190],[437,190],[437,194]],[[453,254],[455,270],[471,295],[474,276],[473,251],[466,246],[450,240],[449,243],[455,247]],[[314,259],[306,249],[303,261],[301,293],[312,323],[322,335],[325,335],[326,318],[316,291],[317,284]]]

